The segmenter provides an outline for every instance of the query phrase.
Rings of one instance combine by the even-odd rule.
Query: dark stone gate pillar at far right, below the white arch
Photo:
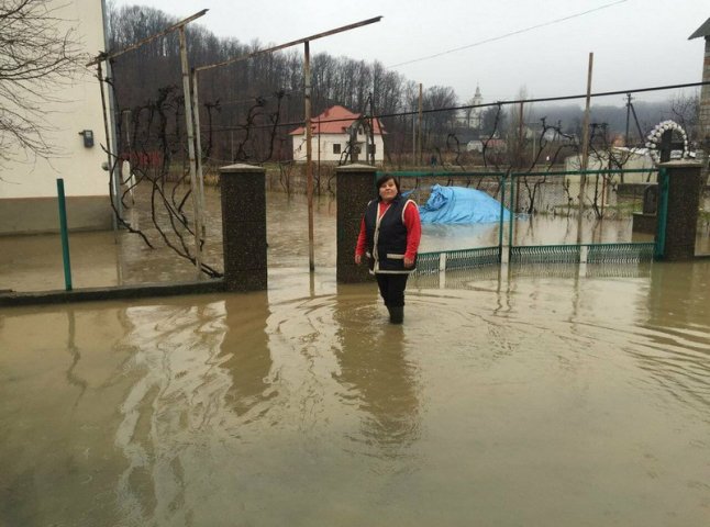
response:
[[[695,258],[698,209],[700,204],[700,168],[697,161],[677,160],[659,165],[668,172],[668,208],[664,260]]]

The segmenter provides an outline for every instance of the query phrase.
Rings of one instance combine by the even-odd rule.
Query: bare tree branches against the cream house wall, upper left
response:
[[[78,71],[75,30],[46,0],[0,0],[0,162],[58,153],[46,141],[54,91]]]

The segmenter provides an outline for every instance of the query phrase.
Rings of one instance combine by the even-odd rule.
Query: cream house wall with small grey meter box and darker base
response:
[[[76,31],[88,63],[104,49],[102,2],[99,0],[52,0],[57,16]],[[84,61],[84,59],[82,59]],[[101,92],[95,67],[77,79],[52,89],[44,105],[45,141],[58,154],[52,159],[25,156],[0,165],[0,234],[53,232],[57,221],[57,178],[64,179],[70,228],[110,228],[109,176],[101,167],[107,155]],[[93,132],[93,146],[85,147],[79,132]],[[20,156],[18,156],[20,157]]]

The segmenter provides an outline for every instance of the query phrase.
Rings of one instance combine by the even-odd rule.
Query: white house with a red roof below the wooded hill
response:
[[[384,130],[378,119],[373,120],[373,138],[370,144],[369,119],[360,119],[346,108],[335,105],[315,117],[311,117],[311,159],[323,162],[350,161],[367,162],[374,148],[375,162],[385,160]],[[293,139],[293,160],[306,161],[306,127],[299,126],[289,134]],[[347,156],[348,146],[353,145],[355,157]]]

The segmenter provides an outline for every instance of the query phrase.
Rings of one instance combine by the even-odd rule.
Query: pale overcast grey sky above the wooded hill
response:
[[[378,23],[312,42],[311,54],[377,59],[424,87],[453,87],[462,102],[476,85],[485,102],[514,99],[522,86],[535,98],[584,93],[590,52],[595,92],[700,81],[705,42],[688,36],[710,18],[708,0],[115,3],[149,5],[180,19],[209,9],[199,24],[264,46],[381,15]]]

